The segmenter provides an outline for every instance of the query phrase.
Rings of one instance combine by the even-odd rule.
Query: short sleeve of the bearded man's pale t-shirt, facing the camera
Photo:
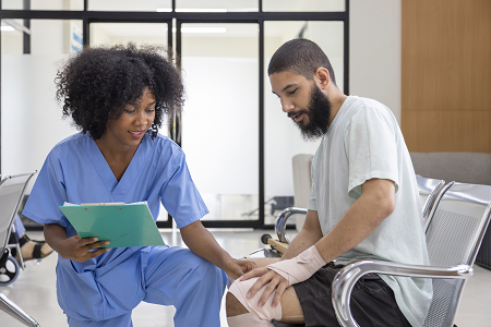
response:
[[[348,195],[358,198],[371,179],[392,180],[398,190],[394,121],[383,109],[363,107],[350,119],[344,136],[349,162]]]

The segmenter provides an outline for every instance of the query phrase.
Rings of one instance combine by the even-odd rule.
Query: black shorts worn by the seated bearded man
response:
[[[331,301],[331,283],[340,268],[343,266],[328,263],[310,279],[294,284],[306,327],[339,326]],[[351,314],[363,327],[411,326],[397,306],[392,289],[376,275],[362,277],[356,283]]]

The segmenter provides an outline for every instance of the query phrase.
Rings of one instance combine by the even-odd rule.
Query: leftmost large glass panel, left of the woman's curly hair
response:
[[[1,26],[2,173],[39,171],[52,146],[77,132],[61,117],[53,80],[82,37],[82,21],[32,20],[25,27],[24,20],[2,20]]]

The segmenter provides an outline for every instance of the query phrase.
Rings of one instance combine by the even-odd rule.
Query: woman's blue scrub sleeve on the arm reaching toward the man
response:
[[[185,162],[182,152],[172,156],[170,178],[161,189],[161,204],[176,220],[178,228],[183,228],[208,214]]]

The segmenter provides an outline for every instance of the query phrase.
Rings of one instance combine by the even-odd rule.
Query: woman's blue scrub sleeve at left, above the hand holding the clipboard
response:
[[[67,228],[69,221],[59,208],[67,199],[63,170],[51,152],[39,171],[22,213],[39,223],[58,223]]]

